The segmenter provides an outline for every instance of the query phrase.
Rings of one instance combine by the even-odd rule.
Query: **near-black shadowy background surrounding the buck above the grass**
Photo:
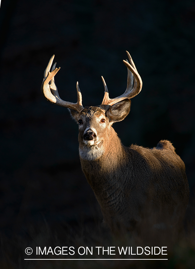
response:
[[[82,223],[94,230],[101,220],[80,168],[78,126],[40,92],[53,54],[60,97],[76,102],[78,80],[83,106],[95,106],[104,95],[101,75],[110,98],[125,91],[122,60],[130,52],[143,88],[114,128],[125,146],[173,143],[186,165],[194,223],[194,1],[2,0],[0,27],[2,260],[9,248],[2,242],[24,239],[29,229]]]

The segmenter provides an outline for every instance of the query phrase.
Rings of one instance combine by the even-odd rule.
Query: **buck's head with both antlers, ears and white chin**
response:
[[[141,91],[141,77],[128,51],[127,55],[130,63],[127,60],[123,61],[128,71],[126,91],[121,96],[110,99],[107,85],[102,77],[104,98],[99,106],[83,108],[82,95],[78,82],[77,103],[66,102],[60,98],[54,82],[54,76],[60,68],[55,68],[55,63],[52,71],[49,72],[54,55],[50,59],[44,72],[44,80],[41,85],[41,91],[44,97],[52,103],[69,108],[72,117],[79,124],[79,153],[83,159],[94,160],[103,154],[106,147],[105,137],[108,137],[110,126],[114,122],[123,120],[129,114],[131,105],[130,99]]]

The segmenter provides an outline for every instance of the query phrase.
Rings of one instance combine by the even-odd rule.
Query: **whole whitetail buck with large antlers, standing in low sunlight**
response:
[[[44,97],[70,109],[79,124],[79,155],[82,170],[101,206],[104,221],[114,233],[131,230],[146,217],[152,225],[174,225],[184,216],[188,205],[189,187],[185,165],[167,140],[155,148],[132,145],[125,147],[112,124],[123,120],[130,111],[132,97],[142,88],[141,77],[127,52],[127,89],[114,99],[108,96],[104,83],[104,98],[100,106],[83,108],[77,82],[77,103],[60,99],[54,76],[60,68],[44,73],[41,91]],[[133,83],[134,77],[134,83]],[[152,218],[152,220],[151,220]]]

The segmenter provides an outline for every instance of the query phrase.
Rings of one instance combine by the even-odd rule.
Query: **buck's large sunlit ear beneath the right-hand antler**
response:
[[[114,105],[112,105],[107,111],[106,116],[109,118],[110,122],[117,122],[124,120],[129,114],[131,106],[130,99],[124,99]]]

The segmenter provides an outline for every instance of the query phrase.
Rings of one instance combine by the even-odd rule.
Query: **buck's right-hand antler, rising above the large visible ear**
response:
[[[137,95],[142,88],[142,80],[140,75],[138,74],[138,71],[135,67],[135,64],[129,54],[128,51],[127,52],[127,56],[129,58],[130,64],[129,62],[126,60],[123,60],[124,64],[127,66],[127,71],[128,71],[128,75],[127,75],[127,89],[124,92],[124,94],[122,94],[121,96],[118,96],[116,98],[110,99],[109,95],[108,95],[108,88],[106,86],[105,80],[102,77],[102,81],[104,83],[104,98],[102,101],[101,105],[114,105],[124,99],[130,99],[135,97],[135,95]],[[132,74],[133,73],[133,74]],[[133,76],[134,75],[134,76]],[[133,77],[134,77],[134,86],[133,86]],[[132,88],[133,87],[133,88]]]

